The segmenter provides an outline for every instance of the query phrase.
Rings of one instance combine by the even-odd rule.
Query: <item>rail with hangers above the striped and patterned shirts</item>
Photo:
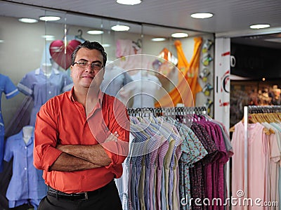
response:
[[[206,107],[143,107],[143,108],[127,108],[129,116],[140,117],[159,117],[173,116],[176,114],[207,114]]]

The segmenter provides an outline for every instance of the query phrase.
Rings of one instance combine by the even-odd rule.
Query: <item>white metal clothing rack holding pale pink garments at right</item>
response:
[[[248,197],[248,124],[249,114],[281,112],[281,105],[244,106],[244,197]],[[244,206],[244,209],[248,209]]]

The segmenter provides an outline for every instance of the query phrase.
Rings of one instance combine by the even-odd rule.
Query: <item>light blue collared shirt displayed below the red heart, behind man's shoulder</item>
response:
[[[72,80],[65,74],[53,68],[50,77],[41,71],[40,68],[25,74],[18,84],[18,90],[34,100],[34,106],[30,114],[30,125],[35,125],[36,114],[41,105],[47,100],[72,88]]]

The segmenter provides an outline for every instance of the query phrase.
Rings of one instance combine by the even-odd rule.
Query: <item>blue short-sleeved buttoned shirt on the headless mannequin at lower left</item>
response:
[[[13,158],[13,176],[8,185],[8,200],[42,199],[46,195],[46,185],[42,171],[33,166],[34,133],[27,144],[22,137],[22,130],[7,138],[4,160]]]

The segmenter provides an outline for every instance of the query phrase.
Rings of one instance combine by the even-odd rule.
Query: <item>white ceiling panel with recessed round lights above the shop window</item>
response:
[[[260,22],[281,27],[280,0],[143,0],[136,6],[120,5],[115,0],[14,2],[212,33],[249,29],[249,25]],[[211,12],[214,17],[206,20],[190,18],[190,14],[196,12]]]

